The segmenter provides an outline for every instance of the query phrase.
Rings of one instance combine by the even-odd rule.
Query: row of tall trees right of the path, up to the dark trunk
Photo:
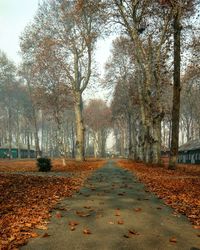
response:
[[[121,37],[114,42],[106,80],[115,86],[112,106],[121,124],[122,140],[127,128],[129,156],[159,163],[161,127],[169,120],[170,166],[174,168],[179,140],[181,48],[184,52],[193,42],[188,34],[195,27],[191,16],[198,11],[198,1],[116,0],[111,5]]]

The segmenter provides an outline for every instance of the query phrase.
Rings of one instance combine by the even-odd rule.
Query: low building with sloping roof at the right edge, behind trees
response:
[[[200,163],[200,140],[189,141],[179,147],[179,163]]]

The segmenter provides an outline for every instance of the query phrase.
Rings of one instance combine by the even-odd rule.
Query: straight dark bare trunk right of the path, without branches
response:
[[[178,7],[177,7],[178,8]],[[176,11],[174,15],[174,74],[173,74],[173,106],[172,106],[172,138],[170,148],[169,169],[175,169],[178,159],[178,141],[179,141],[179,119],[180,119],[180,40],[181,25],[180,11]]]

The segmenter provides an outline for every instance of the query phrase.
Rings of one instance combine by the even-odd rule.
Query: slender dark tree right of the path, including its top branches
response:
[[[179,122],[180,122],[180,91],[181,91],[181,21],[184,16],[194,10],[196,1],[161,1],[161,4],[172,9],[173,18],[173,104],[172,104],[172,138],[170,145],[169,169],[175,169],[178,159]]]

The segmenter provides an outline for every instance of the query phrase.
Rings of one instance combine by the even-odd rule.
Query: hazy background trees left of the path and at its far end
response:
[[[68,86],[52,82],[37,85],[21,66],[17,68],[0,54],[0,145],[30,151],[37,156],[75,157],[76,127],[73,97]],[[106,138],[111,128],[110,108],[102,100],[84,107],[85,153],[106,155]],[[30,155],[30,152],[29,152]]]

